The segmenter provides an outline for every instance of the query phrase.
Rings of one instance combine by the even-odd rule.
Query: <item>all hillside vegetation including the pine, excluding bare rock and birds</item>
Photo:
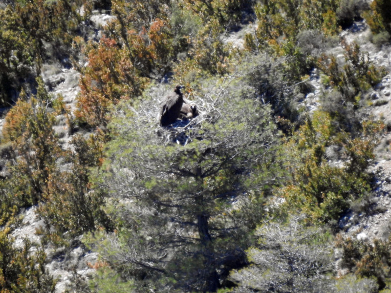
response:
[[[99,260],[68,292],[391,292],[391,242],[344,238],[338,225],[372,196],[368,167],[387,126],[366,109],[388,73],[339,34],[365,21],[388,45],[390,1],[0,7],[1,293],[55,292],[45,247],[75,239]],[[99,32],[97,10],[113,16]],[[80,73],[76,109],[50,94],[44,64]],[[322,93],[309,112],[314,78]],[[158,102],[175,84],[201,115],[167,129]],[[32,206],[42,243],[18,249],[12,231]]]

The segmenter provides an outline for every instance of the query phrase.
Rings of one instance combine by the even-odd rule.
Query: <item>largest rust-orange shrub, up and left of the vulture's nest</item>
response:
[[[121,99],[138,96],[145,80],[134,74],[126,48],[112,39],[102,38],[87,48],[88,66],[81,68],[78,111],[79,123],[90,127],[106,126],[109,109]]]

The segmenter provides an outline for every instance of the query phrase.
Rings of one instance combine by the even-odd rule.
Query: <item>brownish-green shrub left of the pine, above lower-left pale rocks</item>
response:
[[[103,139],[96,136],[91,135],[86,140],[77,134],[71,140],[75,152],[65,157],[71,167],[56,170],[47,178],[39,214],[57,232],[67,232],[67,239],[99,227],[113,229],[111,220],[102,210],[106,196],[95,190],[89,181],[89,168],[102,163]]]

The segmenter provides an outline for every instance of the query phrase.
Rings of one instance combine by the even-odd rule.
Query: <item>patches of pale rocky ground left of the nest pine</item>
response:
[[[99,35],[100,27],[111,18],[112,16],[100,13],[92,16],[91,21],[94,23],[96,35]],[[42,77],[49,93],[54,96],[61,95],[66,107],[72,110],[76,109],[80,87],[79,73],[74,68],[59,68],[55,64],[45,64],[42,68]],[[0,119],[0,128],[2,124],[3,119]],[[55,131],[60,138],[62,147],[70,148],[71,136],[64,115],[58,117]],[[29,239],[32,244],[40,245],[41,236],[37,232],[44,228],[44,223],[43,220],[38,218],[36,209],[37,207],[31,207],[21,212],[21,225],[12,233],[17,247],[22,247],[24,238]],[[56,293],[62,293],[72,288],[76,278],[86,279],[94,272],[92,267],[97,261],[98,255],[96,252],[88,251],[80,240],[75,239],[71,247],[67,249],[55,249],[50,245],[45,249],[45,253],[50,260],[46,265],[46,270],[58,279]]]

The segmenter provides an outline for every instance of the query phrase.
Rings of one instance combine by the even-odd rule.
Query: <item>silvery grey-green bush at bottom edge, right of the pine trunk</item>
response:
[[[234,270],[228,292],[334,292],[329,232],[303,224],[304,215],[270,219],[246,252],[251,265]]]

